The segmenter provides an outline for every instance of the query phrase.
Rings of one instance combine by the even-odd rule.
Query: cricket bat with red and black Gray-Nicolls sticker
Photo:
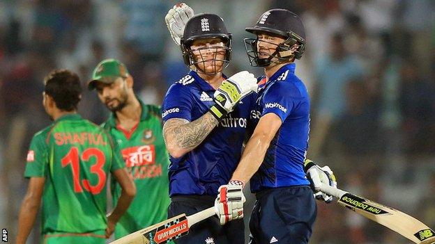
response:
[[[112,244],[159,244],[168,243],[189,233],[192,225],[215,215],[215,208],[205,209],[186,216],[185,213],[176,215],[158,224],[140,229],[132,234],[113,241]]]

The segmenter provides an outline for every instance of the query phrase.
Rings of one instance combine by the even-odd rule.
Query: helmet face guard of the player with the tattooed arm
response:
[[[201,38],[197,38],[194,40],[200,40]],[[191,67],[194,65],[198,73],[201,74],[217,74],[222,72],[228,65],[231,60],[231,34],[228,35],[228,38],[221,38],[224,42],[223,47],[201,47],[199,49],[191,49],[192,42],[181,42],[181,51],[183,52],[183,60],[185,65]],[[217,55],[224,52],[224,58],[217,58]],[[208,53],[213,54],[212,58],[205,58],[204,56],[209,55]],[[213,71],[206,71],[206,63],[213,62]]]

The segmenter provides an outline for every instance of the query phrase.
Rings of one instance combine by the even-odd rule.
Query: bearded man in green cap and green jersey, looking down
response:
[[[112,135],[134,179],[137,195],[115,227],[115,238],[167,219],[169,154],[162,136],[160,107],[146,105],[133,91],[133,79],[119,60],[102,60],[93,71],[90,90],[110,111],[102,124]],[[112,184],[114,202],[121,188]]]

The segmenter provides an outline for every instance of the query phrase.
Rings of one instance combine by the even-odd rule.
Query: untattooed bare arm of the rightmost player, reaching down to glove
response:
[[[280,129],[281,124],[280,117],[274,113],[268,113],[261,117],[254,133],[247,142],[241,161],[238,163],[231,179],[243,182],[251,179],[252,175],[257,172],[261,163],[263,163],[264,155],[266,155],[270,142],[275,137],[278,129]]]

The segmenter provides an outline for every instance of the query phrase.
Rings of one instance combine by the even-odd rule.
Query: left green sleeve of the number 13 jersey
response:
[[[29,152],[27,152],[26,170],[24,177],[45,177],[48,165],[48,147],[42,134],[33,136]]]

